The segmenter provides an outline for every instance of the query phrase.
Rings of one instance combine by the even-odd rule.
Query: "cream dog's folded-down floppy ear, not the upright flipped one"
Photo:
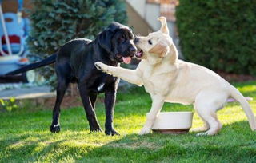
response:
[[[152,54],[158,54],[160,58],[166,57],[166,55],[169,53],[170,47],[166,42],[158,42],[153,48],[150,49],[150,53]]]

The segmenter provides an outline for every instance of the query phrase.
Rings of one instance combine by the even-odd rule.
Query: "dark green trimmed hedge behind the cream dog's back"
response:
[[[186,60],[256,75],[256,1],[180,0],[177,25]]]

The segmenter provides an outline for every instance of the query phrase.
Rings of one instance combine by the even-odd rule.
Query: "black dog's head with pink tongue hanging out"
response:
[[[134,34],[128,26],[113,22],[96,38],[106,50],[110,60],[129,63],[137,49],[133,42]]]

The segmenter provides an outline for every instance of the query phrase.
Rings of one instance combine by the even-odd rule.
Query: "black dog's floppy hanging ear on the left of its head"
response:
[[[110,30],[103,30],[101,34],[98,35],[98,44],[102,46],[107,53],[111,51],[111,38],[113,36],[113,32]]]

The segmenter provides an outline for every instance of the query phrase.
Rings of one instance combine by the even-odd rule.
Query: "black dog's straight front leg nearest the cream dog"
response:
[[[114,117],[114,103],[116,98],[116,90],[107,90],[105,92],[105,108],[106,108],[106,123],[105,133],[106,135],[119,135],[114,130],[113,117]]]

